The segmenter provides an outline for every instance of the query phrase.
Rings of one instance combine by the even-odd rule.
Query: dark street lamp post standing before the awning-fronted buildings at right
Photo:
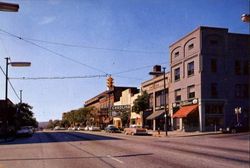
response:
[[[165,113],[165,133],[166,136],[168,136],[168,113],[166,110],[166,67],[163,67],[163,72],[162,71],[156,71],[156,72],[149,72],[149,75],[163,75],[163,94],[164,94],[164,113]]]

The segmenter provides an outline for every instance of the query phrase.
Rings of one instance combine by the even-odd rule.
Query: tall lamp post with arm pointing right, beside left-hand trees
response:
[[[5,58],[6,59],[6,72],[5,72],[5,119],[4,119],[4,125],[5,125],[5,140],[7,139],[7,127],[8,127],[8,80],[9,80],[9,65],[13,67],[28,67],[31,65],[30,62],[9,62],[10,58]]]

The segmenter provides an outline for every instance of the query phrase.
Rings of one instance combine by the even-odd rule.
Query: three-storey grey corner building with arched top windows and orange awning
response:
[[[237,107],[249,121],[249,35],[199,27],[169,49],[173,129],[218,130],[236,122]]]

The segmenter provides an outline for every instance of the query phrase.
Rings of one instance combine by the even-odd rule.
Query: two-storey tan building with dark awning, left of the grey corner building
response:
[[[165,73],[165,96],[164,96],[164,75],[161,73],[162,68],[160,65],[156,65],[153,68],[153,78],[145,81],[141,84],[141,90],[146,91],[149,94],[149,109],[145,111],[148,113],[146,120],[144,120],[144,126],[153,130],[164,130],[165,126],[165,108],[168,111],[169,104],[169,78],[170,73]],[[159,75],[157,75],[157,73]],[[164,102],[165,100],[165,102]],[[167,116],[168,117],[168,116]],[[169,117],[168,117],[169,120]],[[170,123],[170,122],[168,122]],[[169,126],[168,126],[169,128]]]

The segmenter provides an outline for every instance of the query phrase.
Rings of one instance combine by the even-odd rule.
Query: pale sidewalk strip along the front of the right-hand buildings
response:
[[[152,134],[154,137],[166,137],[165,131],[160,131],[160,134],[158,131],[148,130],[149,134]],[[213,131],[213,132],[200,132],[200,131],[194,131],[194,132],[184,132],[184,131],[168,131],[169,137],[189,137],[189,136],[203,136],[203,135],[214,135],[214,134],[221,134],[221,131]]]

